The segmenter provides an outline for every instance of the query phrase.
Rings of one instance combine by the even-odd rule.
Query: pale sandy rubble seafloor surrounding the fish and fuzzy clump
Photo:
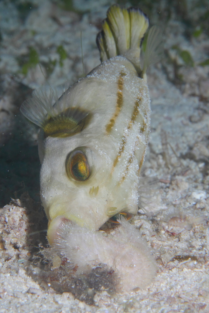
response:
[[[208,1],[139,2],[165,42],[162,61],[148,70],[151,134],[141,182],[158,184],[145,188],[150,216],[139,210],[132,221],[156,259],[153,282],[130,293],[101,291],[89,305],[52,289],[44,273],[55,269],[32,259],[46,241],[45,233],[29,234],[47,221],[38,128],[19,106],[46,78],[71,85],[100,63],[95,38],[111,3],[77,0],[72,12],[46,0],[0,2],[1,313],[209,312]]]

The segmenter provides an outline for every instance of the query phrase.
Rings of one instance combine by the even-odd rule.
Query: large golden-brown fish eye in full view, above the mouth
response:
[[[84,151],[76,149],[71,152],[67,161],[67,174],[81,182],[89,178],[91,170]]]

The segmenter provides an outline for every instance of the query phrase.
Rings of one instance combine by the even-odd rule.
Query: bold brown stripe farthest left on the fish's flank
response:
[[[115,108],[115,112],[112,115],[112,118],[110,119],[109,123],[106,125],[106,131],[109,134],[112,130],[112,127],[115,124],[116,118],[118,117],[121,108],[123,106],[123,80],[124,80],[124,76],[126,76],[125,73],[121,72],[119,79],[118,79],[118,92],[117,92],[117,103],[116,103],[116,108]]]

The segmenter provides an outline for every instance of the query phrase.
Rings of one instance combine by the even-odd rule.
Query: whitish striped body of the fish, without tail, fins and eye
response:
[[[61,215],[98,229],[117,213],[136,214],[139,170],[149,135],[146,81],[119,56],[71,87],[66,101],[81,104],[92,117],[81,133],[44,141],[41,199],[49,220]],[[86,147],[92,168],[84,182],[69,179],[65,168],[69,153],[79,147]]]

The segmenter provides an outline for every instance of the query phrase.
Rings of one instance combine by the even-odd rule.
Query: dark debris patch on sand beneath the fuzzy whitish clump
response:
[[[46,254],[46,251],[43,253]],[[52,260],[47,259],[40,250],[34,257],[33,267],[39,268],[39,273],[34,274],[29,267],[28,274],[42,289],[47,291],[52,288],[60,294],[71,292],[76,299],[88,305],[95,305],[94,296],[97,293],[107,291],[108,294],[114,295],[118,289],[119,277],[113,269],[107,268],[106,264],[98,264],[88,274],[76,275],[76,267],[72,268],[66,258],[62,259],[59,268],[53,268]]]

